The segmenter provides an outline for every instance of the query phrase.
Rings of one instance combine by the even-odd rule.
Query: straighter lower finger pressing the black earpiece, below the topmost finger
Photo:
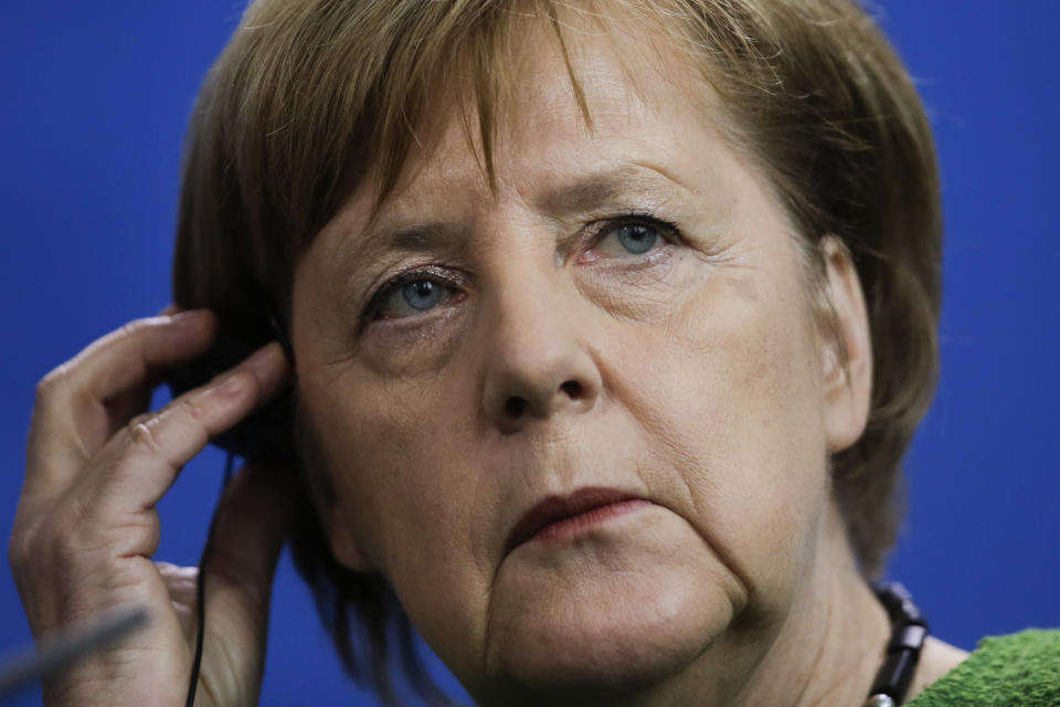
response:
[[[107,444],[105,462],[77,481],[95,511],[105,517],[151,508],[179,469],[211,437],[231,429],[274,398],[287,379],[287,362],[275,341],[208,386],[189,391],[157,413],[134,420]]]

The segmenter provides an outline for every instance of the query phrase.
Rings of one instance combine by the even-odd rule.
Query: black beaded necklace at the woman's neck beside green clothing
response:
[[[875,589],[891,619],[891,640],[887,643],[883,666],[876,674],[862,707],[894,707],[902,704],[916,672],[920,651],[929,633],[928,622],[909,591],[898,582],[878,584]]]

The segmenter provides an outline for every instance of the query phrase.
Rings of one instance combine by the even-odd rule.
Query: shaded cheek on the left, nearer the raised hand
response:
[[[463,409],[466,392],[453,391],[468,389],[462,376],[383,383],[351,367],[314,391],[336,523],[349,528],[436,650],[438,636],[474,645],[475,618],[484,613],[477,602],[491,576],[474,539],[485,536],[476,518],[488,515],[483,505],[496,494],[480,489],[473,473],[475,431],[455,423],[473,419]]]

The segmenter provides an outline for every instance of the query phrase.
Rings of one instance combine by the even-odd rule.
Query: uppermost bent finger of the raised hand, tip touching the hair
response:
[[[68,483],[113,434],[107,401],[142,397],[152,370],[203,354],[215,330],[216,320],[205,310],[140,319],[45,376],[30,425],[26,484]]]

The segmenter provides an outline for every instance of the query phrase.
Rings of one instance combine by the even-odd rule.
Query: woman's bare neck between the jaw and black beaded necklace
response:
[[[664,684],[608,705],[851,707],[865,701],[890,636],[887,612],[858,572],[842,520],[822,519],[814,559],[783,618],[735,622]]]

